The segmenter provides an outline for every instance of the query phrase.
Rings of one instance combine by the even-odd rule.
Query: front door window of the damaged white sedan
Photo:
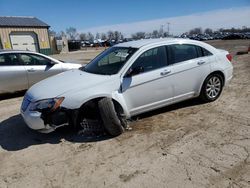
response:
[[[141,54],[131,68],[142,67],[143,72],[147,72],[164,66],[167,66],[166,48],[165,46],[161,46]]]

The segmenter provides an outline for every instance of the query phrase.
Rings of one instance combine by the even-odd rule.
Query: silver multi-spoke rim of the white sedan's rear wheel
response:
[[[206,87],[207,96],[211,99],[217,97],[221,90],[221,81],[218,77],[213,76],[209,79]]]

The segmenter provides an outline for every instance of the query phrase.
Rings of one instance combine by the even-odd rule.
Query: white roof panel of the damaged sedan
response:
[[[141,48],[147,45],[160,44],[163,42],[172,43],[172,42],[184,42],[190,41],[190,39],[180,39],[180,38],[160,38],[160,39],[142,39],[130,42],[119,43],[115,45],[116,47],[132,47],[132,48]]]

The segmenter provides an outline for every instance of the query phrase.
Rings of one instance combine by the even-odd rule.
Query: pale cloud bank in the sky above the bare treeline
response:
[[[162,19],[147,20],[141,22],[132,22],[124,24],[106,25],[82,29],[81,32],[107,32],[109,30],[118,30],[129,36],[137,31],[152,32],[154,29],[160,29],[164,25],[164,31],[168,30],[174,35],[182,34],[195,27],[211,28],[241,28],[242,26],[250,27],[250,6],[241,8],[230,8],[203,13],[190,14],[178,17],[169,17]]]

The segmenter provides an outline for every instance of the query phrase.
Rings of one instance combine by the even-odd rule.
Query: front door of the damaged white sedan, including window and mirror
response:
[[[131,115],[171,102],[171,69],[165,46],[149,49],[135,60],[122,81],[122,95]]]

